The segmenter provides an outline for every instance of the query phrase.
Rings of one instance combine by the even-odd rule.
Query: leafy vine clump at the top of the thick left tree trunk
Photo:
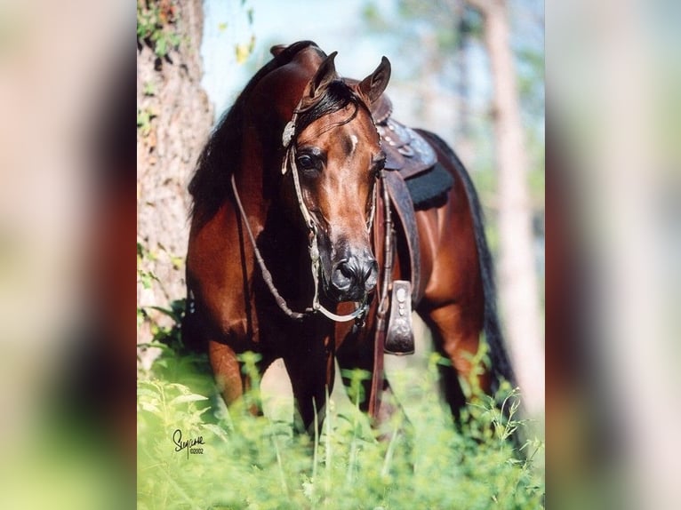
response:
[[[137,0],[137,41],[147,44],[159,58],[180,46],[175,26],[178,6],[174,0]]]

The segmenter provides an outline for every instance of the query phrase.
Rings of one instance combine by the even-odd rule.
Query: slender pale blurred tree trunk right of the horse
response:
[[[544,408],[544,355],[526,175],[528,163],[510,50],[508,11],[504,0],[469,0],[469,4],[485,20],[485,45],[494,81],[501,311],[525,408],[534,414]]]

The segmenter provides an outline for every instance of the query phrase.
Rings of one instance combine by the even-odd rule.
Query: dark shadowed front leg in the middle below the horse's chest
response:
[[[326,394],[331,394],[333,390],[335,364],[332,342],[329,339],[314,341],[304,349],[292,351],[283,359],[291,379],[297,410],[294,426],[301,433],[314,435],[315,417],[317,432],[321,432]]]

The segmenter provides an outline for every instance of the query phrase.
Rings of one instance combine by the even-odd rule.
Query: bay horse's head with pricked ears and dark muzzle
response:
[[[385,162],[369,106],[388,85],[390,64],[384,57],[371,75],[348,84],[336,73],[335,56],[305,85],[284,129],[283,196],[316,242],[311,252],[318,252],[326,296],[360,301],[378,278],[370,232]]]

